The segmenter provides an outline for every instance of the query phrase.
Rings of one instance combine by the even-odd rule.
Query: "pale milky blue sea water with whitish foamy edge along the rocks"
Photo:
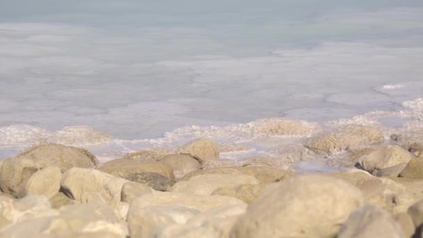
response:
[[[422,1],[2,3],[0,159],[198,137],[277,157],[310,136],[257,130],[286,119],[421,132],[422,65]]]

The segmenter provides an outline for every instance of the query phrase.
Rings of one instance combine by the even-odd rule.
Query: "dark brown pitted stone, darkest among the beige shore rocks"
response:
[[[158,173],[149,172],[132,173],[129,177],[127,177],[127,179],[133,182],[147,184],[149,187],[157,191],[168,191],[176,182],[175,180],[170,180],[168,177],[164,177]]]

